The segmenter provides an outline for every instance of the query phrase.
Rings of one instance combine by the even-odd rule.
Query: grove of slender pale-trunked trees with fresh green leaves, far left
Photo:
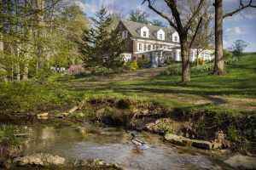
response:
[[[37,76],[37,67],[43,71],[55,61],[67,66],[78,56],[75,42],[86,18],[73,1],[3,0],[0,15],[3,80],[26,80]]]

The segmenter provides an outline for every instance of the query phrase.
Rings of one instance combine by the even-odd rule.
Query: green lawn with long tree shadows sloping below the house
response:
[[[151,74],[152,69],[143,74]],[[256,110],[256,54],[244,54],[236,65],[226,65],[227,74],[213,76],[211,72],[191,75],[189,85],[182,85],[181,76],[142,78],[140,71],[132,77],[117,75],[116,80],[84,77],[72,82],[71,90],[85,97],[129,98],[158,101],[170,107],[218,105],[236,111]],[[159,72],[160,73],[160,72]]]

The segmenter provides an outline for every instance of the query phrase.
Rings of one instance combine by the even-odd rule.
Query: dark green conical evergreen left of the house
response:
[[[96,18],[90,18],[94,24],[85,29],[82,42],[79,42],[81,59],[85,66],[116,68],[123,65],[120,54],[125,51],[125,40],[121,40],[120,32],[109,31],[112,18],[106,8],[100,8]]]

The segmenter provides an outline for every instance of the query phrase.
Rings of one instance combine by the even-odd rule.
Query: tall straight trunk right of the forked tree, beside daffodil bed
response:
[[[222,0],[215,0],[215,75],[224,74],[223,59],[223,7]]]

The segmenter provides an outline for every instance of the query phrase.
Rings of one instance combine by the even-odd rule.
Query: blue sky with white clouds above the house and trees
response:
[[[104,6],[111,12],[118,12],[125,18],[129,17],[131,10],[140,9],[148,13],[149,20],[161,20],[167,24],[158,14],[148,8],[147,4],[143,4],[143,0],[75,0],[83,9],[88,17],[93,17],[98,8]],[[212,0],[208,0],[212,1]],[[223,0],[224,13],[228,13],[236,9],[239,0]],[[256,2],[256,1],[255,1]],[[255,3],[253,3],[255,4]],[[168,8],[164,0],[155,0],[155,7],[161,11],[168,13]],[[169,13],[170,14],[170,13]],[[224,48],[229,48],[233,42],[241,39],[248,43],[246,52],[256,52],[256,8],[246,8],[235,16],[224,19]]]

